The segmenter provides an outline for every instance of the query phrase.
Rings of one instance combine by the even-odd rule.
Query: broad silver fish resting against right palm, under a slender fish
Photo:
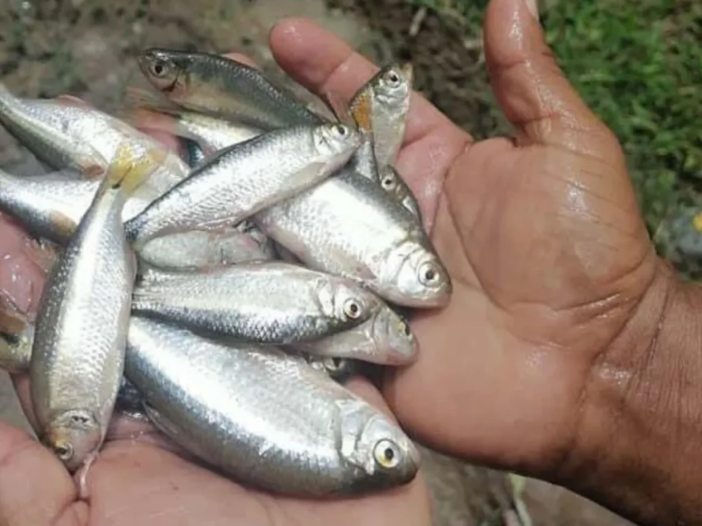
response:
[[[440,307],[451,298],[451,278],[424,229],[349,168],[253,221],[307,267],[353,278],[399,306]]]

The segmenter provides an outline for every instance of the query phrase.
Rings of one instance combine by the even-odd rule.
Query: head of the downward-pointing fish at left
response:
[[[91,412],[69,410],[52,420],[44,443],[73,472],[100,448],[102,434],[102,426]]]

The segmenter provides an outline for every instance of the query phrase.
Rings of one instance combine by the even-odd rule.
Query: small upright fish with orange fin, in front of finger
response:
[[[413,67],[389,64],[351,98],[350,111],[359,128],[373,133],[378,166],[395,166],[404,141],[412,93]]]

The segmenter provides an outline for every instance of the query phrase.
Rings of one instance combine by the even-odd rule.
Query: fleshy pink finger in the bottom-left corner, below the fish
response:
[[[0,424],[0,524],[86,524],[73,481],[53,454],[26,433]]]

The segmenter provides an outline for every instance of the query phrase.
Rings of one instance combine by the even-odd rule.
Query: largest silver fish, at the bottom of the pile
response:
[[[125,376],[154,426],[229,478],[298,497],[405,485],[420,455],[362,398],[274,346],[133,316]]]

